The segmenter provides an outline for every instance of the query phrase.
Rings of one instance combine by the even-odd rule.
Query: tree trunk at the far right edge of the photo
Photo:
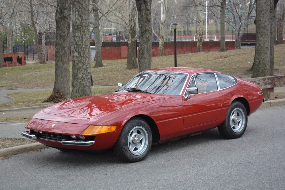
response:
[[[276,44],[283,44],[283,25],[285,17],[285,0],[279,1],[279,6],[277,6],[277,42]]]

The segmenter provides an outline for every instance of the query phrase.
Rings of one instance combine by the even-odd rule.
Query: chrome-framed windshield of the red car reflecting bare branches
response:
[[[139,73],[117,92],[144,91],[151,94],[179,95],[186,79],[187,74],[184,73]]]

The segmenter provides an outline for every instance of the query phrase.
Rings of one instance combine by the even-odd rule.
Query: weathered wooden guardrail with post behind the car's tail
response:
[[[274,87],[285,86],[285,75],[275,75],[268,77],[257,77],[247,79],[250,82],[257,84],[263,92],[264,98],[266,100],[272,100],[274,97]]]

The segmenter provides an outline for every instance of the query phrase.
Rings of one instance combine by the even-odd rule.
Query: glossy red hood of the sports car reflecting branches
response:
[[[42,111],[55,115],[94,118],[103,112],[111,112],[121,107],[170,98],[173,96],[174,95],[113,92],[110,94],[100,94],[67,100],[54,104]]]

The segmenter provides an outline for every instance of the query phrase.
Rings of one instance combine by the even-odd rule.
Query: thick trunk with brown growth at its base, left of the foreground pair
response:
[[[47,102],[60,102],[70,99],[69,46],[71,3],[70,0],[57,0],[56,3],[55,78],[54,88]]]

